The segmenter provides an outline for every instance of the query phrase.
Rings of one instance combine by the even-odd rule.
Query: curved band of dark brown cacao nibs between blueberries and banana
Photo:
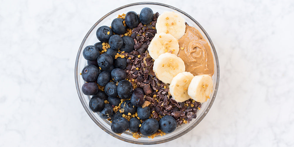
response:
[[[134,88],[143,88],[146,94],[146,101],[149,101],[151,118],[158,121],[162,116],[171,115],[178,124],[189,123],[192,118],[196,118],[198,108],[201,103],[187,100],[178,103],[169,95],[168,86],[156,78],[153,72],[153,59],[148,55],[148,45],[156,34],[155,24],[158,12],[154,14],[151,24],[143,26],[141,23],[132,30],[131,37],[134,39],[134,49],[127,54],[127,67],[125,69],[127,77],[132,81]]]

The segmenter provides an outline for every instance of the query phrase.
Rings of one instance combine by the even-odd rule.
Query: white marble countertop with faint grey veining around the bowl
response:
[[[152,146],[294,146],[294,2],[159,2],[190,14],[210,35],[220,84],[198,126]],[[138,146],[102,131],[74,83],[83,37],[123,5],[0,1],[0,146]]]

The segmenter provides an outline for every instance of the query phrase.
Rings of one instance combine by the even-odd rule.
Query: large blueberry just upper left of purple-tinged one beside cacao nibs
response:
[[[133,85],[128,80],[121,80],[117,84],[117,93],[118,96],[125,99],[129,98],[133,91]]]

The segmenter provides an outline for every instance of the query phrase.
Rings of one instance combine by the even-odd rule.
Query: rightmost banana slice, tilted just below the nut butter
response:
[[[188,87],[188,95],[200,103],[206,102],[212,92],[212,78],[208,74],[194,76]]]

